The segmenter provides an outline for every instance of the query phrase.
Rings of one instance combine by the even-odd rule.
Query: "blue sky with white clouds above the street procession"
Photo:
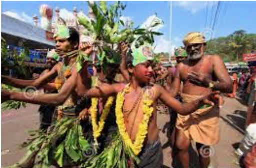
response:
[[[164,35],[156,37],[155,52],[172,52],[183,46],[182,39],[191,31],[200,31],[206,39],[232,34],[236,30],[256,33],[256,1],[122,1],[126,9],[123,18],[135,26],[147,24],[154,14],[164,22],[156,28]],[[69,16],[73,7],[87,13],[85,1],[2,1],[1,12],[33,24],[39,7],[47,4],[59,7],[61,16]],[[171,7],[172,6],[172,7]],[[172,9],[172,10],[171,10]],[[171,17],[172,16],[172,17]],[[171,19],[172,18],[172,19]],[[214,25],[214,26],[213,26]]]

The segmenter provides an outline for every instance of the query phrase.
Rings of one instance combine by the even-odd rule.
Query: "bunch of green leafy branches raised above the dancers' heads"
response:
[[[139,47],[144,42],[153,44],[154,36],[162,35],[152,31],[153,27],[162,24],[162,20],[157,17],[147,28],[133,27],[133,23],[126,25],[120,19],[126,6],[120,1],[110,5],[107,5],[106,1],[88,2],[88,5],[92,8],[94,19],[80,14],[78,22],[85,28],[83,34],[91,37],[103,68],[106,63],[120,62],[121,57],[117,44],[126,42]]]

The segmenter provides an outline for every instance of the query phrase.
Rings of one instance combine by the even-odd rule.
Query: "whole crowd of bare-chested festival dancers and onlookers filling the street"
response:
[[[111,146],[120,144],[122,147],[116,152],[132,154],[124,155],[127,160],[125,166],[119,165],[119,160],[115,159],[120,157],[117,154],[114,158],[109,156],[107,160],[112,159],[111,163],[106,163],[109,167],[161,167],[163,152],[156,125],[157,110],[161,110],[171,114],[170,145],[177,149],[175,154],[181,165],[189,167],[191,160],[188,149],[193,140],[196,142],[200,167],[209,166],[210,156],[205,156],[205,153],[201,155],[200,149],[218,143],[219,112],[224,104],[220,93],[232,94],[236,79],[233,77],[232,81],[220,56],[205,54],[207,43],[203,34],[190,32],[184,37],[184,47],[175,51],[177,65],[173,67],[163,67],[155,62],[150,44],[135,47],[124,42],[118,45],[121,61],[109,62],[103,67],[100,59],[93,63],[88,59],[78,66],[79,53],[91,57],[94,54],[93,44],[82,43],[74,28],[62,25],[57,30],[54,35],[56,49],[47,55],[50,69],[33,80],[2,76],[4,84],[44,89],[44,93],[37,92],[30,96],[24,92],[1,91],[2,102],[16,100],[41,105],[40,129],[46,138],[38,146],[38,152],[48,145],[49,139],[56,138],[51,136],[58,131],[56,123],[66,118],[78,118],[84,139],[97,153],[76,161],[68,154],[73,160],[67,159],[68,156],[63,157],[64,165],[53,157],[47,165],[104,166],[103,159],[98,162],[98,158],[108,154],[106,151]],[[93,74],[89,73],[89,66],[93,67]],[[255,114],[253,74],[255,71],[251,71],[248,80],[242,74],[238,82],[242,92],[246,89],[244,83],[248,81],[247,125],[255,122],[251,119]],[[63,134],[69,134],[68,129]],[[68,147],[66,141],[67,138],[61,136],[54,143],[49,143],[51,150],[44,157],[56,155],[55,149],[61,144]],[[84,150],[78,148],[76,152]],[[253,154],[256,156],[254,150],[249,153],[250,157]],[[34,167],[38,163],[36,156],[37,152],[34,152],[15,166]],[[254,163],[253,159],[250,160],[246,165],[255,166],[255,160]]]

